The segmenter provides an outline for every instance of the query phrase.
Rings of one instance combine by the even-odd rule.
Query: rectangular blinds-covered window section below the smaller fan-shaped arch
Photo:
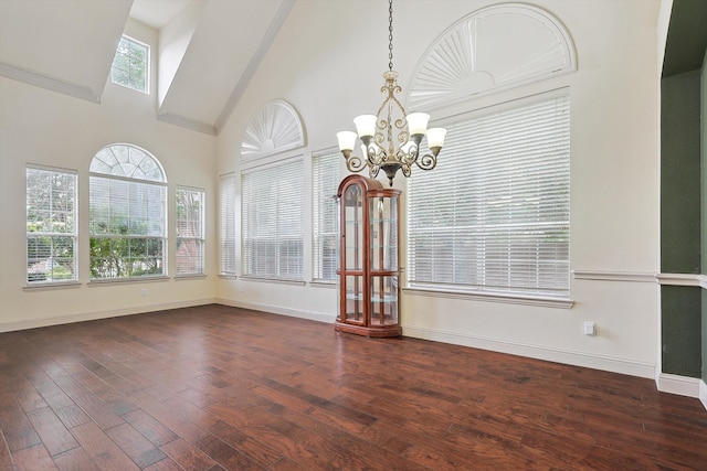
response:
[[[243,171],[241,194],[243,275],[302,280],[302,158]]]

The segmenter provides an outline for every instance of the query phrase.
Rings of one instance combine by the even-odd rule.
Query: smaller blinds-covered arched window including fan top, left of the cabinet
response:
[[[241,143],[243,276],[304,279],[302,121],[287,103],[255,113]]]

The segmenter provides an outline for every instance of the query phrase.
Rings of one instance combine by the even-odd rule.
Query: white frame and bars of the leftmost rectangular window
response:
[[[61,175],[61,176],[72,176],[73,182],[73,189],[71,191],[71,212],[66,212],[66,217],[70,218],[72,221],[72,231],[71,232],[54,232],[54,231],[29,231],[29,225],[30,225],[30,217],[29,217],[29,211],[30,211],[30,203],[28,201],[28,196],[30,194],[30,186],[29,186],[29,172],[30,171],[36,171],[36,172],[48,172],[50,174],[50,179],[53,179],[56,175]],[[50,193],[51,193],[51,189],[50,189]],[[53,201],[53,199],[51,199]],[[41,210],[36,210],[36,211],[41,211]],[[55,213],[55,208],[53,206],[53,203],[50,203],[50,207],[44,210],[44,211],[49,211],[51,213],[51,215],[53,215]],[[50,216],[52,217],[52,216]],[[52,227],[53,228],[53,227]],[[24,278],[24,282],[25,282],[25,287],[27,288],[39,288],[39,287],[55,287],[55,286],[65,286],[65,285],[77,285],[78,283],[78,172],[75,170],[70,170],[70,169],[60,169],[60,168],[55,168],[55,167],[45,167],[45,165],[35,165],[35,164],[27,164],[25,165],[25,233],[27,233],[27,244],[25,244],[25,261],[27,261],[27,274],[25,274],[25,278]],[[51,249],[50,249],[50,257],[49,259],[51,260],[52,267],[51,270],[52,272],[54,271],[54,243],[53,240],[55,238],[71,238],[72,239],[72,254],[71,254],[71,265],[73,266],[72,270],[71,270],[71,277],[70,278],[60,278],[60,279],[54,279],[54,276],[52,276],[51,280],[48,279],[34,279],[30,281],[30,239],[34,238],[34,237],[49,237],[52,243],[51,243]],[[36,258],[36,257],[33,257]],[[60,257],[62,258],[62,257]],[[67,258],[67,257],[63,257],[63,258]],[[34,263],[34,265],[39,264],[41,261],[39,261],[39,259]],[[44,271],[45,274],[45,271]],[[38,277],[35,277],[38,278]]]

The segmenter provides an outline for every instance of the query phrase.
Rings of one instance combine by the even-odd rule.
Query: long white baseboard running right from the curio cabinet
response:
[[[412,336],[415,339],[432,340],[435,342],[451,343],[454,345],[490,350],[493,352],[545,360],[548,362],[564,363],[568,365],[583,366],[594,370],[603,370],[630,376],[640,376],[646,378],[655,377],[655,365],[652,363],[636,362],[632,360],[616,358],[592,353],[572,352],[561,349],[548,349],[540,345],[508,342],[504,340],[488,339],[476,335],[462,335],[455,332],[418,329],[410,325],[403,325],[402,333],[403,335]]]

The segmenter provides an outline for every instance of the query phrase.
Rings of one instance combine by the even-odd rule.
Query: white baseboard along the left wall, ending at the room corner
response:
[[[191,308],[193,306],[212,304],[214,302],[218,302],[215,298],[198,299],[198,300],[191,300],[191,301],[165,302],[160,304],[113,309],[109,311],[91,311],[91,312],[84,312],[81,314],[59,315],[59,317],[44,318],[44,319],[31,319],[31,320],[20,321],[20,322],[7,322],[7,323],[0,323],[0,333],[12,332],[18,330],[27,330],[27,329],[45,328],[49,325],[70,324],[74,322],[95,321],[98,319],[117,318],[120,315],[143,314],[146,312],[163,311],[167,309]]]

